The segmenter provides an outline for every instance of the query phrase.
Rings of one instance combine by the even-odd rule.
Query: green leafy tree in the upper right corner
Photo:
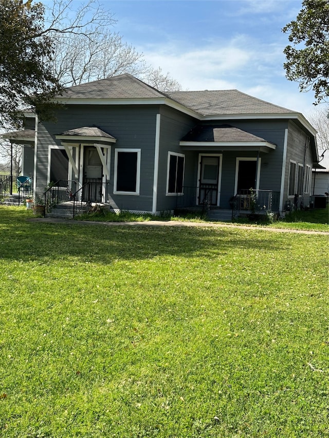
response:
[[[296,20],[283,28],[293,46],[284,49],[286,78],[314,91],[315,105],[329,97],[329,0],[303,0]]]

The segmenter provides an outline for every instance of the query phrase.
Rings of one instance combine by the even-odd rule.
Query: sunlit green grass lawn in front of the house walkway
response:
[[[328,237],[0,206],[0,436],[326,437]]]

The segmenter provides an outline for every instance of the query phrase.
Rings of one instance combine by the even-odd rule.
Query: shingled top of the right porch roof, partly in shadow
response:
[[[207,126],[197,125],[181,139],[188,142],[267,142],[262,137],[230,125]]]

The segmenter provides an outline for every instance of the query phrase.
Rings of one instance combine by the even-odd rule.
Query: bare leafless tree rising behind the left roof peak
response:
[[[51,7],[46,8],[47,32],[56,32],[53,35],[53,74],[62,85],[79,85],[130,73],[160,91],[181,89],[169,73],[163,74],[161,68],[147,65],[142,53],[112,31],[116,21],[108,12],[106,16],[97,1],[90,0],[83,5],[70,22],[67,12],[72,6],[71,0],[53,0]],[[86,17],[92,15],[94,20],[88,22]]]

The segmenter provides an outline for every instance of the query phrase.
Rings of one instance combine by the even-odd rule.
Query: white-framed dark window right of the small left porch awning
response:
[[[115,149],[115,194],[139,195],[140,149]]]

